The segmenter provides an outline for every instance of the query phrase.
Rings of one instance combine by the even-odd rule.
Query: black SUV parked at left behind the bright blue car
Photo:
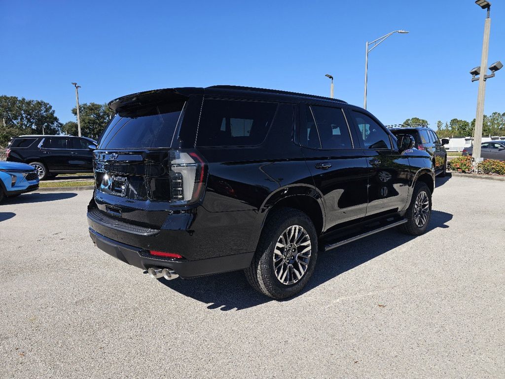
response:
[[[40,180],[58,174],[91,172],[96,141],[68,135],[20,135],[7,145],[7,160],[28,163]]]

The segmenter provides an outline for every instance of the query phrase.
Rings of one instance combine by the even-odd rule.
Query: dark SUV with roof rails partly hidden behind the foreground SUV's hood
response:
[[[447,151],[443,147],[449,143],[447,138],[438,138],[437,133],[427,126],[401,125],[389,127],[394,135],[410,134],[416,141],[415,147],[418,150],[428,152],[433,160],[435,175],[444,177],[447,171]]]

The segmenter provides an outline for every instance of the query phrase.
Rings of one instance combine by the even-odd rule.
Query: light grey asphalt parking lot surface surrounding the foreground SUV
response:
[[[505,182],[437,179],[429,231],[319,256],[273,301],[94,248],[91,191],[0,205],[0,377],[503,377]]]

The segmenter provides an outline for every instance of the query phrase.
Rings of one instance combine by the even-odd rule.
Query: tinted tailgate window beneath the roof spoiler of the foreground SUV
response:
[[[107,127],[98,149],[170,148],[182,122],[184,102],[120,112]]]

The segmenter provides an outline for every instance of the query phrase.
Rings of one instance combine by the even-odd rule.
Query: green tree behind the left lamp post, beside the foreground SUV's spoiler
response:
[[[77,109],[72,109],[72,113],[77,117]],[[114,112],[107,104],[80,104],[79,116],[81,121],[81,135],[97,139],[104,131],[107,123],[114,116]]]

